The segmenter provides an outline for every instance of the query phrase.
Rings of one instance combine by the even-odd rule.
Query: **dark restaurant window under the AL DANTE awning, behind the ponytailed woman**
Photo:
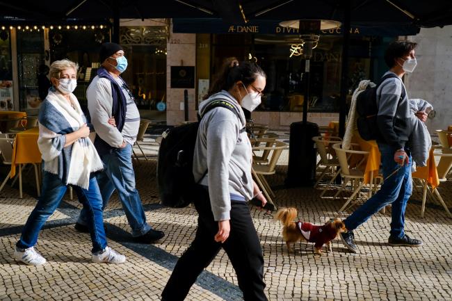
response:
[[[382,38],[365,36],[350,39],[347,101],[362,79],[381,75],[376,74],[376,70],[384,65],[382,54],[373,49],[379,49],[385,42]],[[339,112],[343,38],[321,36],[309,64],[309,87],[305,59],[291,56],[291,44],[298,43],[293,35],[213,35],[211,76],[227,57],[251,58],[257,60],[267,74],[265,94],[257,111],[302,111],[309,94],[309,112]]]

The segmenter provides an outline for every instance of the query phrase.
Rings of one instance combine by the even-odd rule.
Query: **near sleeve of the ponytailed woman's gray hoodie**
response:
[[[222,111],[220,113],[220,111]],[[223,115],[234,114],[219,109]],[[220,115],[218,114],[218,115]],[[235,118],[235,116],[234,116]],[[209,170],[209,197],[216,221],[229,220],[229,161],[237,141],[237,126],[231,117],[215,118],[207,127],[207,168]]]

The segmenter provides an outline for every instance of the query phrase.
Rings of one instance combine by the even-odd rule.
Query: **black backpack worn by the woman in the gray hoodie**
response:
[[[207,105],[202,116],[218,106],[236,113],[232,104],[217,100],[211,101]],[[197,182],[193,177],[193,156],[197,129],[200,126],[202,116],[197,115],[197,122],[166,130],[162,135],[163,139],[159,147],[159,159],[157,161],[157,183],[161,204],[165,206],[185,207],[197,197]],[[204,176],[206,174],[207,170],[204,172]]]

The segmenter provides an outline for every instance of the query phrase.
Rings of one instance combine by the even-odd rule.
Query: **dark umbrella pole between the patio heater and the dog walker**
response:
[[[348,86],[348,49],[350,44],[350,0],[344,1],[344,43],[342,44],[342,74],[341,74],[341,98],[339,101],[339,137],[344,137],[347,114],[347,86]]]

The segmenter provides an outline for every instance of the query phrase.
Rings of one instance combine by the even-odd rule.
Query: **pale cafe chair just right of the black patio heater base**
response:
[[[332,174],[330,184],[332,184],[334,179],[336,179],[336,177],[339,175],[339,172],[341,171],[340,168],[339,170],[334,171],[334,168],[337,168],[339,166],[339,159],[337,158],[334,149],[332,149],[332,145],[334,143],[340,143],[342,139],[340,137],[334,136],[328,138],[325,138],[323,136],[316,136],[312,137],[312,140],[314,141],[314,143],[316,143],[317,152],[320,156],[320,161],[318,161],[317,163],[316,172],[321,166],[325,166],[325,168],[323,168],[323,171],[321,172],[320,177],[318,177],[316,184],[314,184],[314,188],[318,186],[320,181],[323,179],[323,177],[325,177],[325,174],[327,174],[328,170],[330,169]],[[323,195],[323,193],[325,193],[325,190],[323,190],[321,196]]]

